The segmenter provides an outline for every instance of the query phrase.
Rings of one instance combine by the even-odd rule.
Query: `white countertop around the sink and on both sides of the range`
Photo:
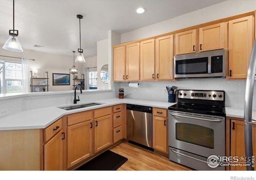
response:
[[[47,108],[38,108],[27,111],[22,111],[17,114],[2,116],[0,118],[0,130],[20,130],[20,129],[44,129],[62,116],[66,114],[72,114],[76,112],[82,112],[85,110],[92,110],[96,108],[102,108],[106,106],[113,106],[116,104],[137,104],[142,106],[152,106],[156,108],[168,108],[175,103],[162,102],[162,101],[151,101],[151,100],[134,100],[134,99],[105,99],[95,101],[100,103],[97,106],[90,106],[86,108],[79,108],[74,110],[63,110],[58,107],[72,106],[74,104],[67,104],[63,106],[54,106]],[[90,102],[86,102],[90,103]],[[85,103],[79,103],[85,104]],[[226,116],[244,118],[244,111],[233,108],[226,108]],[[252,113],[252,119],[256,120],[256,111]]]

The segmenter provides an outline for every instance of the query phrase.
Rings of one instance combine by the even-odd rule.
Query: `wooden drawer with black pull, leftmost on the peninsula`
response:
[[[47,142],[52,136],[62,130],[62,118],[54,122],[52,125],[44,129],[44,142]]]

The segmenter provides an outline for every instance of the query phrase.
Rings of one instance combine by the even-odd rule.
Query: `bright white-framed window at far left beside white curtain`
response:
[[[22,65],[0,60],[0,93],[15,92],[22,92]]]

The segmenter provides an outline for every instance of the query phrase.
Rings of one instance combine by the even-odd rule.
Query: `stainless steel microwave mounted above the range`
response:
[[[226,50],[174,56],[174,77],[226,77]]]

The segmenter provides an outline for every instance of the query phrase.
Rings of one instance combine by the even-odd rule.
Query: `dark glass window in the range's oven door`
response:
[[[176,123],[176,139],[206,148],[214,148],[214,131],[189,123]]]

